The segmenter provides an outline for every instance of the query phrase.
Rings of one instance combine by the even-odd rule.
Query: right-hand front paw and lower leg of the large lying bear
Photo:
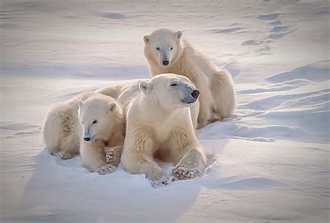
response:
[[[206,167],[206,155],[202,148],[191,148],[173,168],[179,180],[201,176]]]

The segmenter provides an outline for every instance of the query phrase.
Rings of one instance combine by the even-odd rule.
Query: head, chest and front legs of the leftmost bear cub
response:
[[[80,155],[83,167],[109,174],[120,162],[125,138],[125,116],[113,98],[95,94],[79,101]]]

